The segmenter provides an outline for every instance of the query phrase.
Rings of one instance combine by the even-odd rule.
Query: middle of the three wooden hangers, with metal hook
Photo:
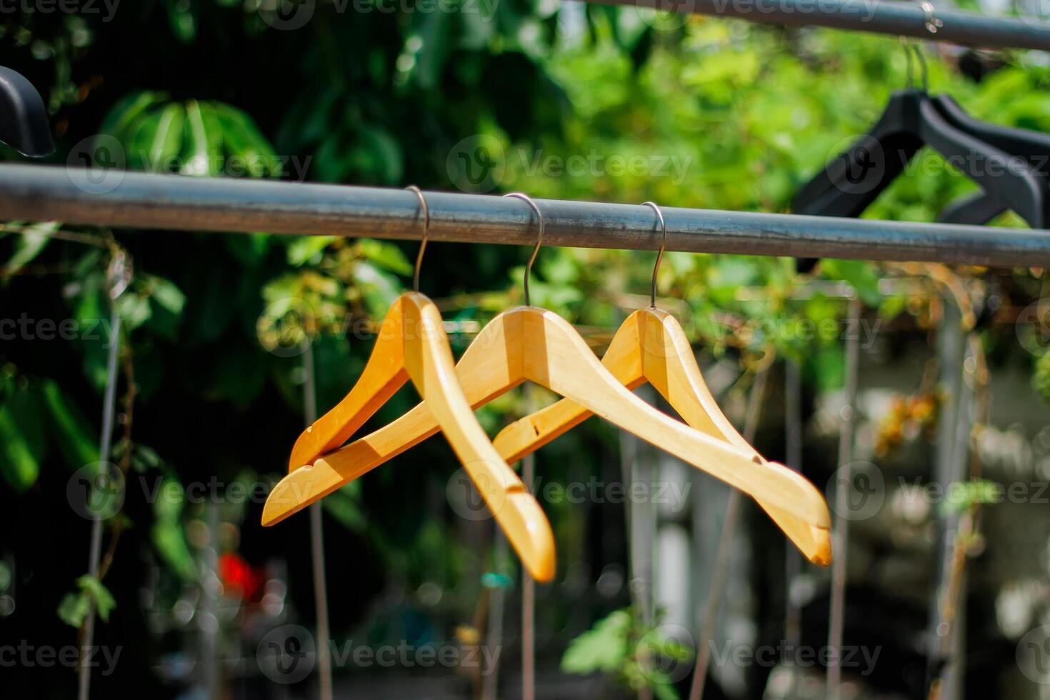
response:
[[[603,367],[566,320],[528,305],[527,280],[543,242],[543,214],[527,196],[507,196],[525,200],[537,213],[539,239],[525,271],[526,305],[494,318],[456,366],[469,404],[477,408],[526,380],[536,382],[774,508],[826,529],[827,504],[810,482],[656,410]],[[264,524],[287,517],[294,512],[291,504],[296,510],[302,508],[437,430],[436,418],[424,401],[390,425],[317,459],[309,475],[302,470],[289,473],[271,492]],[[321,440],[328,444],[331,437]]]

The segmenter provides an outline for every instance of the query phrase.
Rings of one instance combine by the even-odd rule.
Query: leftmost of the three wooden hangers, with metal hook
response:
[[[457,381],[441,314],[433,301],[419,293],[419,267],[426,247],[430,213],[419,188],[410,189],[419,196],[424,216],[423,241],[416,259],[415,291],[398,297],[387,312],[369,362],[354,388],[296,441],[291,463],[293,468],[301,468],[295,469],[285,481],[294,476],[294,483],[303,488],[301,494],[308,497],[300,497],[294,490],[278,492],[275,489],[267,500],[267,508],[280,502],[281,512],[287,517],[338,488],[340,484],[323,482],[322,485],[322,481],[315,479],[321,470],[311,466],[314,452],[342,444],[411,379],[426,403],[432,421],[445,434],[522,564],[537,580],[549,581],[554,575],[554,538],[550,524],[540,504],[499,455],[478,423]],[[297,454],[307,454],[309,459]],[[264,515],[264,525],[275,522]]]

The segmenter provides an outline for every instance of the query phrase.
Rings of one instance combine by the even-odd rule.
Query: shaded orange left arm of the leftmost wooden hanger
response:
[[[386,313],[364,370],[354,388],[331,410],[314,421],[295,441],[289,471],[313,463],[342,445],[408,380],[404,367],[404,295]]]

